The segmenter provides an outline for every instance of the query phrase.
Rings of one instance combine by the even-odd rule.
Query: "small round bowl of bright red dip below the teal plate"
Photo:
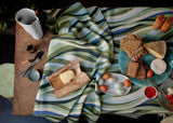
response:
[[[145,88],[145,95],[146,95],[147,98],[154,98],[156,96],[156,94],[157,94],[157,91],[156,91],[155,87],[147,86]]]

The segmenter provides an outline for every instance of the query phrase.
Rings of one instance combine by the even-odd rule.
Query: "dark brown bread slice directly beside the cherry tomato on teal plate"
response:
[[[137,71],[136,78],[139,79],[139,80],[145,80],[146,79],[145,66],[144,66],[142,60],[139,60],[138,63],[139,63],[139,67],[138,67],[138,71]]]

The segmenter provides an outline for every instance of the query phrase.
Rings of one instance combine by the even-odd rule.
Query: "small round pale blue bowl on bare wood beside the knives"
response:
[[[31,82],[37,82],[40,79],[40,72],[38,70],[31,70],[28,74],[28,80]]]

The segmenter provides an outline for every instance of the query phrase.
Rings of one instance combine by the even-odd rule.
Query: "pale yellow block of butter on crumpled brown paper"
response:
[[[59,74],[59,78],[64,84],[69,83],[72,79],[76,78],[74,70],[67,70]]]

